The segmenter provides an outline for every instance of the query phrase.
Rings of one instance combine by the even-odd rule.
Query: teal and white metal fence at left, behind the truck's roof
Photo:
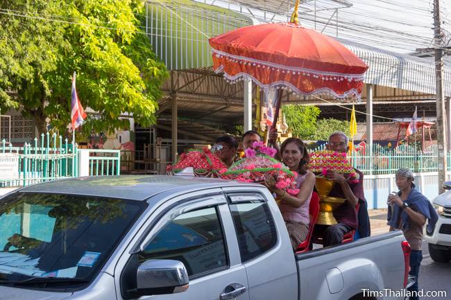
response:
[[[54,179],[85,176],[120,175],[120,150],[83,150],[89,158],[80,164],[77,144],[56,134],[41,134],[32,143],[13,147],[0,142],[0,188],[28,186]]]

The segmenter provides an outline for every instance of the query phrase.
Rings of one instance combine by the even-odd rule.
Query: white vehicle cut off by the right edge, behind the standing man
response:
[[[439,214],[432,233],[425,232],[425,240],[432,260],[439,263],[451,261],[451,182],[445,182],[445,193],[432,200],[432,205]]]

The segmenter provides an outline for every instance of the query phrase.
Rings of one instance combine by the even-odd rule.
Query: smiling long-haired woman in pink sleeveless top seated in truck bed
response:
[[[273,176],[266,176],[264,184],[269,191],[275,193],[280,200],[279,208],[287,225],[291,246],[293,250],[303,242],[309,233],[309,204],[315,184],[315,175],[308,170],[309,153],[303,141],[297,138],[286,139],[280,147],[282,162],[291,172],[298,173],[296,190],[292,195],[286,190],[278,188]]]

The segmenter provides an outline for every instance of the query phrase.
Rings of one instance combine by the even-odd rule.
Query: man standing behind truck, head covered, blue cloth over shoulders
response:
[[[410,300],[418,299],[418,273],[423,260],[421,242],[423,227],[427,222],[427,232],[434,231],[437,215],[431,202],[415,188],[414,173],[408,168],[396,172],[396,186],[399,192],[389,195],[387,215],[390,230],[401,229],[411,247],[409,275],[416,276],[416,283],[408,290],[414,292]]]

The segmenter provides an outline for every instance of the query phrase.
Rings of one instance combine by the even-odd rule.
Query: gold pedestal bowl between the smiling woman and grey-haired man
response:
[[[316,224],[321,225],[333,225],[337,224],[332,211],[337,209],[338,206],[343,204],[345,200],[340,197],[330,197],[329,193],[334,187],[334,182],[329,179],[316,177],[315,182],[316,191],[320,197],[319,200],[319,213],[316,219]]]

